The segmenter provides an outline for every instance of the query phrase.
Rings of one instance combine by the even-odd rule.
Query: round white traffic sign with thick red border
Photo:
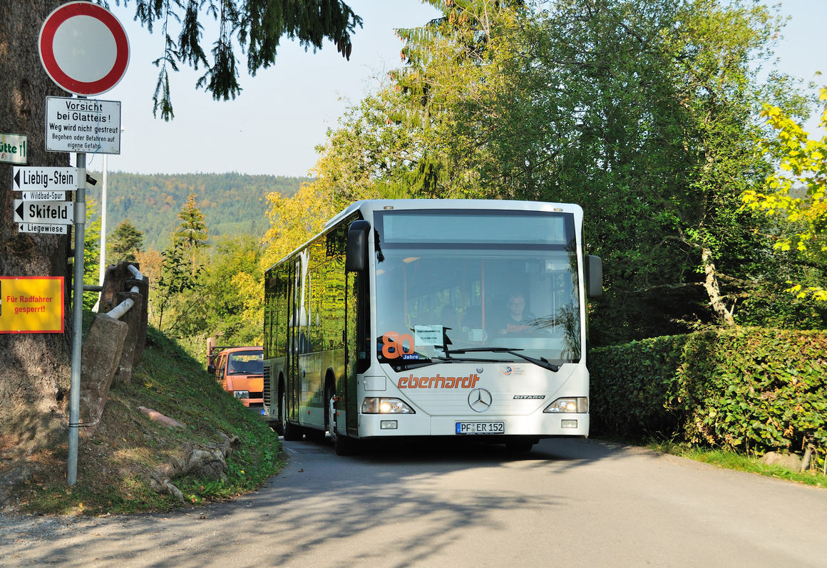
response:
[[[129,64],[129,41],[121,22],[92,2],[55,8],[37,41],[43,69],[58,86],[80,96],[106,93]]]

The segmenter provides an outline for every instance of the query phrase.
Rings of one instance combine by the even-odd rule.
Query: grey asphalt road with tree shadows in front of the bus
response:
[[[0,566],[827,566],[827,489],[584,440],[284,447],[233,503],[0,516]]]

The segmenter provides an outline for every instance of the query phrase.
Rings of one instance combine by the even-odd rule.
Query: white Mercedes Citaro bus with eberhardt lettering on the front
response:
[[[583,211],[353,203],[265,274],[265,408],[285,440],[589,434]]]

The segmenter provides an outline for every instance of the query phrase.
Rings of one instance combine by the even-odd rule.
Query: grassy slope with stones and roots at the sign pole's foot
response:
[[[139,406],[174,418],[185,428],[161,426]],[[172,480],[186,496],[184,504],[150,489],[147,472],[182,456],[188,445],[220,446],[221,433],[241,442],[227,458],[227,482]],[[113,385],[98,432],[81,437],[78,483],[72,488],[65,483],[66,454],[64,444],[31,456],[40,466],[18,494],[23,510],[59,514],[169,510],[256,489],[281,463],[275,432],[224,392],[200,361],[154,329],[131,384]]]

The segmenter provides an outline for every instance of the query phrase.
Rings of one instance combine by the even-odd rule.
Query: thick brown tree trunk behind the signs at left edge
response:
[[[37,38],[62,0],[0,1],[0,132],[24,134],[27,165],[69,165],[65,152],[45,151],[45,97],[68,96],[45,74]],[[69,237],[18,233],[12,165],[0,163],[0,275],[66,276],[65,334],[0,334],[0,440],[31,449],[60,438],[67,425],[71,334]],[[2,464],[0,464],[2,465]]]

